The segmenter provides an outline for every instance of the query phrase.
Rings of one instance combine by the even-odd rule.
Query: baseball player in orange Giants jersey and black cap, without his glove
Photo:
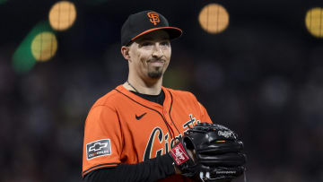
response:
[[[212,123],[188,91],[162,86],[170,40],[182,30],[160,13],[131,14],[121,29],[127,82],[97,100],[84,126],[83,172],[87,181],[190,181],[169,152],[198,123]]]

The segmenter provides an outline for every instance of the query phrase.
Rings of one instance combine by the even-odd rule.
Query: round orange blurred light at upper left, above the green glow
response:
[[[76,19],[76,8],[73,3],[59,1],[49,11],[49,22],[54,30],[67,30]]]

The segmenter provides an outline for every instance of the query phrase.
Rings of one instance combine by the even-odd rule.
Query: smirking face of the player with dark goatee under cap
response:
[[[164,30],[156,30],[135,39],[129,48],[130,69],[140,77],[159,79],[170,63],[170,38]]]

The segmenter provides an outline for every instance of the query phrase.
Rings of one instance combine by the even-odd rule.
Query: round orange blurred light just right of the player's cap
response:
[[[220,4],[207,4],[199,13],[198,22],[203,30],[219,33],[228,27],[229,13]]]

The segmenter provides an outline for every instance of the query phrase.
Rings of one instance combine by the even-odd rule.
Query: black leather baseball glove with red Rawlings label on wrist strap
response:
[[[182,175],[202,181],[231,181],[244,171],[246,155],[237,134],[225,126],[201,123],[188,129],[170,151]]]

